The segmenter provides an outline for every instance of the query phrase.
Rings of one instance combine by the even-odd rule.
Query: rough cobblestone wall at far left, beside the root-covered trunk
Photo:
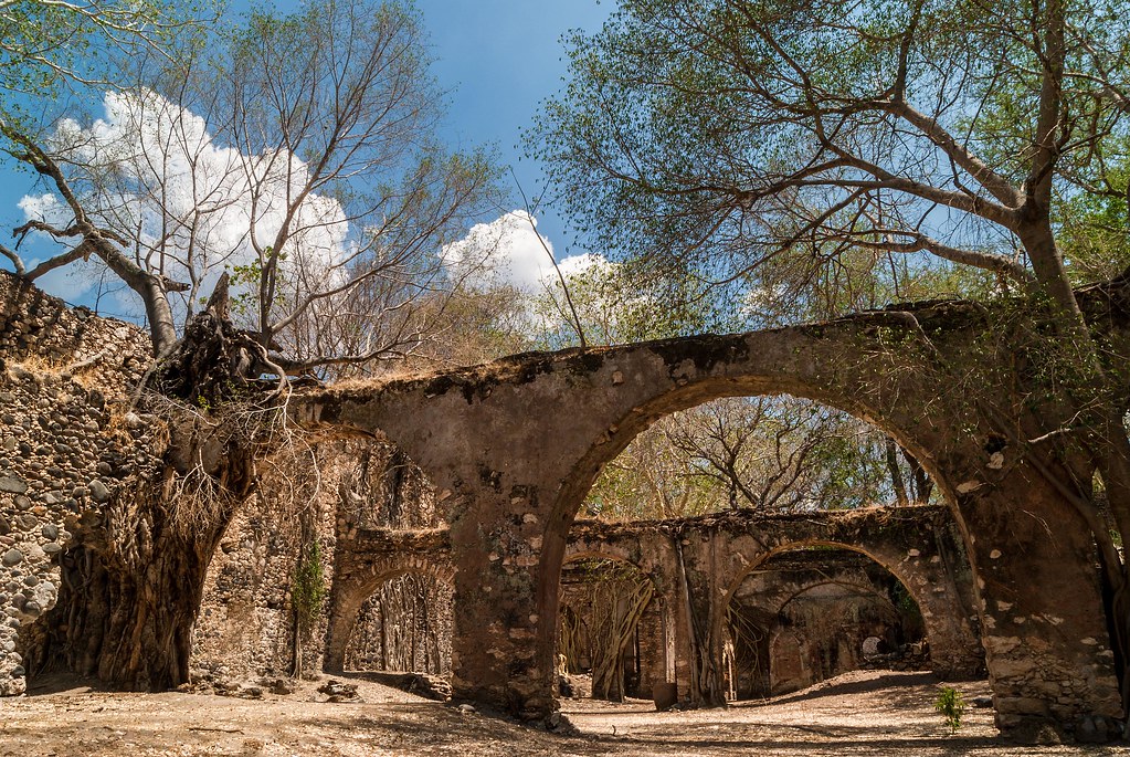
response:
[[[157,469],[160,425],[125,412],[148,355],[136,327],[0,272],[0,695],[46,662],[42,618],[76,531]]]

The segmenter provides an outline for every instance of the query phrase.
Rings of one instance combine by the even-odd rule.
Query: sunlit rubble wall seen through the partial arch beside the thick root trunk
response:
[[[302,464],[314,460],[310,455],[316,456],[316,472],[312,464]],[[260,468],[263,480],[259,494],[235,516],[208,568],[193,630],[192,665],[198,675],[246,678],[293,672],[292,585],[304,539],[319,543],[325,600],[319,621],[302,639],[302,670],[306,675],[320,672],[338,540],[348,538],[359,525],[410,529],[443,524],[433,488],[385,440],[322,442],[306,458],[268,460]],[[432,617],[419,634],[417,649],[423,659],[427,646],[436,662],[420,672],[446,672],[450,667],[450,590],[443,598],[445,623],[438,602],[429,602]],[[373,637],[390,623],[415,620],[411,614],[384,617],[376,602],[362,606],[354,632],[359,642],[354,664],[372,656],[372,644],[362,639]],[[400,628],[395,634],[403,636]],[[425,644],[425,637],[434,638]],[[372,668],[366,663],[362,669]]]

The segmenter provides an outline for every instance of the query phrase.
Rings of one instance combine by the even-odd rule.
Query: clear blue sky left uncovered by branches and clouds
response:
[[[284,12],[295,6],[275,3]],[[527,194],[539,193],[541,168],[522,155],[521,130],[530,124],[538,103],[563,84],[567,61],[560,36],[572,28],[598,29],[615,10],[615,0],[416,0],[416,6],[431,34],[433,71],[450,93],[445,133],[462,146],[495,146]],[[0,241],[5,244],[12,243],[9,229],[23,221],[16,203],[34,190],[29,174],[0,165]],[[558,258],[582,252],[555,214],[542,214],[539,230],[551,241]],[[0,259],[0,264],[7,267],[7,261]]]

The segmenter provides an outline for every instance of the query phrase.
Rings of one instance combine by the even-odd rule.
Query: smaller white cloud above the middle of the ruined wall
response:
[[[511,286],[538,294],[557,286],[549,256],[553,249],[553,243],[537,230],[536,218],[524,210],[511,210],[489,224],[476,224],[462,240],[445,246],[443,255],[444,262],[466,276],[471,287]],[[602,260],[585,253],[559,260],[558,266],[570,277]]]

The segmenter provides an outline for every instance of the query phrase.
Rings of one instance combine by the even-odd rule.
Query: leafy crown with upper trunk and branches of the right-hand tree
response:
[[[925,253],[1068,296],[1052,206],[1122,194],[1124,25],[1085,3],[628,2],[574,38],[534,137],[593,233],[655,264]]]

